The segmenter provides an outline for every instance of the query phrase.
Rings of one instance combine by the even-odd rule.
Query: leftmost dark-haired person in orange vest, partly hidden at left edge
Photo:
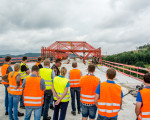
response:
[[[8,73],[10,73],[11,71],[13,71],[12,67],[10,66],[11,64],[11,57],[10,56],[6,56],[5,57],[5,63],[3,64],[3,66],[1,67],[1,75],[2,77]],[[2,84],[5,86],[5,115],[8,115],[8,91],[7,91],[7,87],[9,86],[9,83],[5,82],[2,79]]]

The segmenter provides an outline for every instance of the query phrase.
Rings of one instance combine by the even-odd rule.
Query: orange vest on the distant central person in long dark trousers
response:
[[[79,80],[81,78],[81,71],[79,69],[70,70],[70,87],[80,87]]]

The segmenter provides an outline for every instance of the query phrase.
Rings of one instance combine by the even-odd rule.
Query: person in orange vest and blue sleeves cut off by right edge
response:
[[[145,88],[137,94],[135,113],[137,120],[150,120],[150,73],[144,76]]]

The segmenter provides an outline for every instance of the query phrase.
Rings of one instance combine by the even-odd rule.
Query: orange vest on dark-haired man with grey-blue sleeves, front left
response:
[[[25,106],[42,106],[44,103],[44,91],[40,87],[40,77],[27,77],[24,88]]]

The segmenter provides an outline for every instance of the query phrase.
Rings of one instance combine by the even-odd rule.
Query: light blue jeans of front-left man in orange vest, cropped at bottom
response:
[[[42,112],[42,106],[41,107],[26,107],[26,115],[24,120],[30,120],[32,111],[34,111],[34,120],[40,120],[41,119],[41,112]]]

